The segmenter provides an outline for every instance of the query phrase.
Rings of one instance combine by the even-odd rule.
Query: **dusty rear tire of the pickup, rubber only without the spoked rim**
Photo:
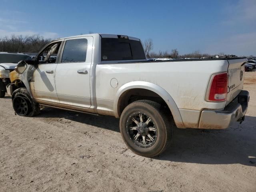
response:
[[[134,138],[131,138],[128,133],[127,122],[128,118],[134,113],[147,114],[156,125],[157,137],[152,146],[144,148],[134,143]],[[170,144],[174,127],[174,120],[170,112],[164,109],[160,104],[150,100],[138,100],[132,102],[123,110],[120,117],[120,132],[125,144],[135,154],[145,157],[154,157],[161,154]]]

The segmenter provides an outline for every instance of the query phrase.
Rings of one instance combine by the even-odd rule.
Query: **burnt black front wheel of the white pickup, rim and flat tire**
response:
[[[25,88],[16,89],[12,93],[12,106],[17,115],[32,117],[40,113],[40,106],[32,100],[28,90]]]

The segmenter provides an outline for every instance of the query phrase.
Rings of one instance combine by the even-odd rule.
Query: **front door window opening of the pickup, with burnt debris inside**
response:
[[[55,63],[61,42],[48,45],[37,57],[39,63]]]

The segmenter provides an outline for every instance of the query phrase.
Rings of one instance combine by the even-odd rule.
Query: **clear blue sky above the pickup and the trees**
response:
[[[256,0],[0,0],[0,37],[152,38],[154,52],[256,55]]]

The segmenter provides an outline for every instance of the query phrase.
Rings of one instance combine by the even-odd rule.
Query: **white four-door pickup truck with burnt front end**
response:
[[[138,38],[88,34],[54,40],[33,61],[19,62],[7,89],[20,116],[37,115],[43,105],[120,118],[127,146],[152,157],[170,143],[174,126],[224,129],[244,120],[246,61],[149,62]]]

